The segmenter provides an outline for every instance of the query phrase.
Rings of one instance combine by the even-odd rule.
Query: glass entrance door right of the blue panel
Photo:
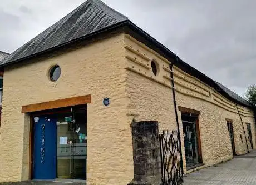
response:
[[[57,178],[86,179],[86,112],[59,114],[57,138]]]

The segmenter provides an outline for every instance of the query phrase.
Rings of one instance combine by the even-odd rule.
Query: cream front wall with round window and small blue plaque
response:
[[[125,96],[124,34],[33,64],[6,67],[0,128],[0,182],[29,177],[26,104],[91,94],[87,116],[88,184],[125,184],[133,178],[132,135]],[[58,64],[56,83],[48,69]],[[105,107],[102,99],[109,97]]]

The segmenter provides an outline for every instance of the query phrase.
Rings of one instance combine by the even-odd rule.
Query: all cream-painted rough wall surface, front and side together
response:
[[[152,59],[158,64],[156,76],[151,71]],[[60,65],[62,70],[55,83],[47,76],[53,64]],[[6,67],[0,128],[0,182],[29,177],[29,114],[21,113],[22,106],[92,94],[87,116],[87,181],[90,184],[129,183],[133,178],[132,119],[159,121],[160,132],[177,128],[169,64],[129,35],[118,34],[48,59]],[[173,71],[177,106],[201,112],[199,125],[205,166],[232,158],[225,118],[233,119],[237,154],[245,153],[245,136],[235,104],[178,68],[174,67]],[[102,104],[105,97],[111,100],[109,107]],[[238,108],[246,134],[245,122],[252,125],[256,147],[253,115],[248,108]],[[183,133],[180,111],[178,116]],[[184,148],[183,134],[181,145]],[[184,149],[183,161],[185,167]]]

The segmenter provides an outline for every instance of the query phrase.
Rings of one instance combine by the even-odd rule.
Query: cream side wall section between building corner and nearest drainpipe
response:
[[[130,36],[126,35],[125,43],[126,92],[130,99],[128,116],[130,119],[135,118],[136,121],[158,121],[160,132],[163,129],[176,129],[169,76],[162,77],[167,73],[165,70],[161,70],[157,77],[151,71],[151,59],[161,61],[163,58],[141,48]],[[167,63],[165,67],[168,70]]]

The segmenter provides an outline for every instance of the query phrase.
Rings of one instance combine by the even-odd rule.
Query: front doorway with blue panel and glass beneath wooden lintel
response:
[[[33,113],[32,127],[32,179],[86,180],[86,104]]]

